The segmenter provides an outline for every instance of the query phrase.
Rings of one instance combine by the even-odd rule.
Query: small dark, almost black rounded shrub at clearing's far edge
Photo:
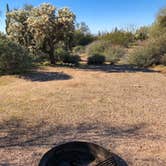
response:
[[[104,62],[105,56],[101,54],[93,54],[92,56],[88,57],[89,65],[102,65]]]

